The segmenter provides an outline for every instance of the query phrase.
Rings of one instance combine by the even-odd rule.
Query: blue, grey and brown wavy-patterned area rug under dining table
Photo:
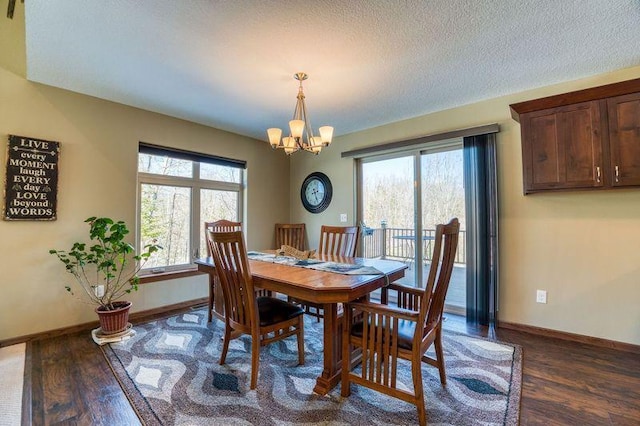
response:
[[[219,365],[224,325],[206,310],[136,325],[103,351],[140,420],[147,425],[413,425],[415,406],[362,386],[340,396],[313,393],[322,371],[322,322],[305,319],[305,365],[295,337],[261,350],[258,387],[249,390],[251,339],[232,340]],[[518,346],[445,332],[447,386],[423,367],[429,424],[516,425],[522,351]],[[409,364],[399,381],[412,388]]]

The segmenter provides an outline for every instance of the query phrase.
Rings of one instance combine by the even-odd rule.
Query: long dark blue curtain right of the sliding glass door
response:
[[[467,322],[494,325],[498,294],[498,197],[494,133],[463,138],[467,216]]]

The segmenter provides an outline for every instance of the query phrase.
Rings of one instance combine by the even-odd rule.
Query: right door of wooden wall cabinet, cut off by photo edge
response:
[[[607,100],[611,184],[640,185],[640,93]]]

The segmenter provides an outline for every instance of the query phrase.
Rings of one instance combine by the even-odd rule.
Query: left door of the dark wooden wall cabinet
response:
[[[525,193],[603,185],[598,102],[525,114],[522,154]]]

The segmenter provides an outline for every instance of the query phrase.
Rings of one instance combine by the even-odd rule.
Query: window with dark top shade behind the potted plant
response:
[[[243,169],[238,160],[140,143],[138,245],[163,247],[150,272],[187,268],[206,253],[203,222],[242,218]]]

